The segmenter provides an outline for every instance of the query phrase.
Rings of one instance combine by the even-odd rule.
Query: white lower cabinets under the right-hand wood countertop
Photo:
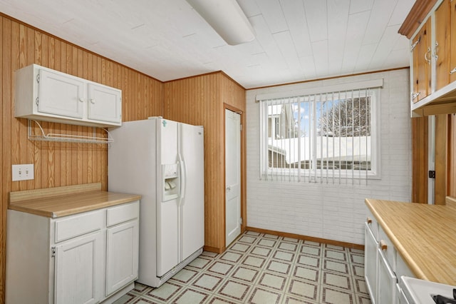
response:
[[[405,303],[398,284],[401,275],[415,277],[400,253],[368,212],[365,223],[364,275],[373,304]]]

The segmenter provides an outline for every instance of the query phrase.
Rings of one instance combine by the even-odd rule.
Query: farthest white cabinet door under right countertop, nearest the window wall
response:
[[[378,242],[375,240],[371,226],[367,222],[365,223],[364,243],[364,275],[369,294],[371,295],[371,302],[375,304],[377,303]]]

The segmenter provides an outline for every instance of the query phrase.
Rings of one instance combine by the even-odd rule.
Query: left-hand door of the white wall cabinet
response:
[[[83,118],[85,83],[76,77],[39,70],[38,112]]]

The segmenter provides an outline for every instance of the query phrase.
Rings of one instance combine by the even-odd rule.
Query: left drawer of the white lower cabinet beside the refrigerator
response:
[[[103,228],[105,211],[82,213],[56,220],[56,243]]]

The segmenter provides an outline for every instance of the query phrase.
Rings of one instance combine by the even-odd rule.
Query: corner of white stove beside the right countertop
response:
[[[435,304],[435,301],[432,300],[432,295],[443,295],[446,298],[453,299],[453,288],[456,288],[456,286],[452,285],[406,276],[400,277],[399,285],[403,290],[403,296],[405,296],[401,303],[410,304]]]

